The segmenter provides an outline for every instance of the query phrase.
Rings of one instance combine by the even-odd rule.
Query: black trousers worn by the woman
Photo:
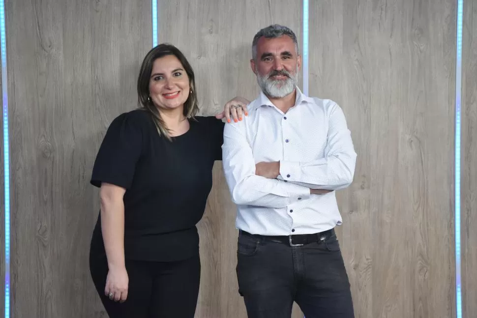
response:
[[[128,295],[123,303],[104,294],[108,263],[89,257],[96,290],[110,318],[193,318],[199,295],[199,254],[188,260],[151,262],[126,260]]]

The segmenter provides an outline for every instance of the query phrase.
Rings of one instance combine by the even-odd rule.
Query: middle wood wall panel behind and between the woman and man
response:
[[[188,58],[196,74],[203,115],[221,111],[234,96],[256,97],[259,89],[249,61],[252,39],[259,29],[284,24],[301,39],[299,1],[159,2],[159,43],[176,45]],[[235,217],[222,164],[217,162],[206,213],[199,224],[202,277],[197,318],[246,317],[237,284]],[[293,317],[302,317],[298,306]]]

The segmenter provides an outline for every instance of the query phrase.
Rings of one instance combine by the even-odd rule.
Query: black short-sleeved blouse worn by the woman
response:
[[[212,167],[222,160],[224,123],[213,116],[189,119],[172,142],[157,133],[151,116],[134,110],[116,117],[99,148],[91,184],[111,183],[124,194],[124,253],[129,260],[183,260],[199,250],[196,224],[212,187]],[[101,215],[92,256],[104,256]]]

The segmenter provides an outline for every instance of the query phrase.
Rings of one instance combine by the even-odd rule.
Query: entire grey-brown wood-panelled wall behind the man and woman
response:
[[[236,95],[256,97],[249,59],[258,29],[285,24],[301,49],[301,1],[158,2],[159,41],[190,60],[204,115]],[[464,3],[462,282],[464,317],[474,317],[477,6]],[[152,43],[150,1],[6,0],[5,7],[12,317],[106,317],[89,277],[99,211],[89,177],[111,120],[137,105],[136,77]],[[357,318],[455,317],[455,16],[455,0],[310,1],[310,94],[341,105],[358,152],[355,181],[338,193]],[[196,317],[246,317],[235,206],[220,163],[213,175],[199,224]],[[3,274],[0,266],[2,281]]]

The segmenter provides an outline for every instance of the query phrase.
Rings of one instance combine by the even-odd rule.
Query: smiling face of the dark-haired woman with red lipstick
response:
[[[149,78],[149,94],[159,110],[182,111],[189,91],[189,77],[178,58],[168,55],[154,60]]]

